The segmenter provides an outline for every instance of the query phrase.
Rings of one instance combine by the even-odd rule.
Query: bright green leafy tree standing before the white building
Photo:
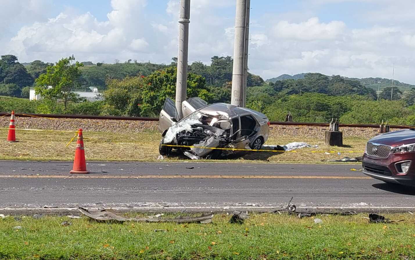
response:
[[[81,63],[75,61],[73,55],[59,60],[54,66],[48,66],[46,73],[36,79],[36,94],[49,100],[62,101],[65,110],[69,101],[81,101],[76,93],[71,92],[71,89],[79,86],[80,67],[82,66]]]

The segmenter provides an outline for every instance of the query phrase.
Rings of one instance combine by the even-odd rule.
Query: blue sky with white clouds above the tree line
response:
[[[180,0],[0,0],[0,49],[22,62],[169,63]],[[191,0],[189,62],[233,54],[236,0]],[[251,0],[249,69],[415,83],[413,0]]]

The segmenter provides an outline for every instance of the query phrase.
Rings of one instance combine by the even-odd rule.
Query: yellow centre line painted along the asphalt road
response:
[[[140,175],[140,176],[94,176],[94,175],[2,175],[0,178],[60,178],[60,179],[372,179],[359,176],[263,176],[263,175]]]

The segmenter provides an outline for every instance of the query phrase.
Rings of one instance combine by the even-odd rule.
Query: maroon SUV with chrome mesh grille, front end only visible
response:
[[[415,184],[415,129],[378,135],[366,145],[364,174],[383,182]]]

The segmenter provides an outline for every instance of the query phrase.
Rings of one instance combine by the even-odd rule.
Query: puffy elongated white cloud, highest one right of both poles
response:
[[[329,40],[337,38],[346,29],[344,22],[332,21],[320,23],[318,17],[312,17],[305,22],[278,22],[273,33],[276,37],[298,40]]]

